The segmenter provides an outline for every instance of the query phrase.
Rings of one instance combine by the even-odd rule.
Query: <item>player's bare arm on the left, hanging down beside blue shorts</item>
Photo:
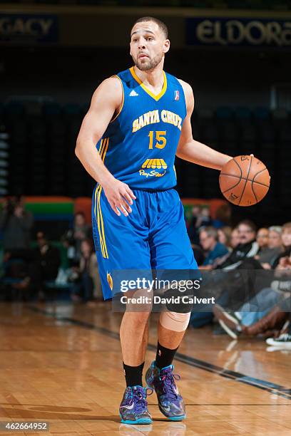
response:
[[[101,139],[114,113],[122,104],[122,87],[118,78],[108,78],[93,93],[91,105],[78,134],[75,153],[86,171],[102,185],[104,193],[116,214],[131,212],[129,204],[135,199],[126,183],[117,180],[101,159],[96,144]],[[129,204],[128,204],[129,203]]]

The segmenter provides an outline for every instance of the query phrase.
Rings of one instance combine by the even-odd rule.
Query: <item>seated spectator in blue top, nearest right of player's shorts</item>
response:
[[[205,260],[201,269],[213,269],[215,261],[228,254],[228,249],[218,242],[218,232],[214,227],[202,227],[199,236],[200,244],[205,251]]]

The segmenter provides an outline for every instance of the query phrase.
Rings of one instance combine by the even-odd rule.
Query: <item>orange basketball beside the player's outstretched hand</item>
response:
[[[252,206],[267,194],[270,175],[257,157],[236,156],[223,166],[219,185],[229,202],[237,206]]]

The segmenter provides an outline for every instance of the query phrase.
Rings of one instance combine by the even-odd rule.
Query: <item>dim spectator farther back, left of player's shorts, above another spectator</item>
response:
[[[81,259],[81,243],[84,239],[92,237],[91,225],[86,223],[85,214],[75,214],[73,229],[69,229],[61,238],[64,246],[68,249],[68,259],[71,266],[78,264]]]

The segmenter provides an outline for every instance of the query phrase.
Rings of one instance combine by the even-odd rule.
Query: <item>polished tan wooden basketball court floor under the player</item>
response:
[[[0,423],[48,422],[34,435],[291,435],[291,352],[188,328],[175,359],[188,417],[170,422],[148,397],[153,425],[123,425],[120,313],[111,303],[0,306]],[[155,358],[157,315],[146,365]],[[174,371],[175,372],[175,371]],[[32,432],[1,430],[0,435]]]

